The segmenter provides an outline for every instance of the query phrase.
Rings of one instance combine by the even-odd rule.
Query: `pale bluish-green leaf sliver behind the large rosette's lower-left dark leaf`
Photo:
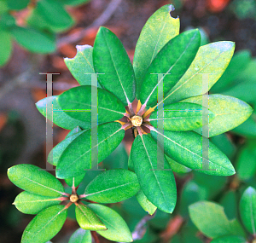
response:
[[[73,130],[76,130],[77,128],[74,128]],[[79,135],[83,134],[85,130],[80,130],[77,133],[74,133],[71,136],[68,136],[67,138],[65,138],[64,140],[62,140],[60,143],[58,143],[55,148],[53,148],[48,155],[48,159],[47,161],[49,162],[49,164],[51,165],[58,165],[58,161],[61,158],[61,154],[63,153],[63,151],[67,148],[67,146],[73,142],[73,140],[75,138],[77,138]]]

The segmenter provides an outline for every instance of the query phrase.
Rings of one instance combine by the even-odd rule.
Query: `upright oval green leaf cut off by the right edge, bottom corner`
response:
[[[246,229],[256,234],[256,190],[249,187],[241,196],[240,201],[241,221]]]

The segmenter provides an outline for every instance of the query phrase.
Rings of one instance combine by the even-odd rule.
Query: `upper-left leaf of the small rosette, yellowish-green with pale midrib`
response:
[[[61,182],[55,176],[35,165],[12,166],[8,170],[8,176],[17,187],[32,194],[57,197],[64,192]]]

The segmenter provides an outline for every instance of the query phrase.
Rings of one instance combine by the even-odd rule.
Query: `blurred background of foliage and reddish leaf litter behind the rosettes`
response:
[[[35,102],[46,96],[46,77],[54,75],[53,95],[79,85],[63,58],[76,55],[77,44],[93,45],[99,26],[107,26],[122,41],[133,59],[137,38],[149,16],[172,3],[181,32],[200,28],[202,43],[236,42],[236,53],[212,93],[235,96],[256,106],[256,1],[255,0],[0,0],[0,242],[20,242],[32,220],[12,203],[20,189],[12,184],[7,169],[29,163],[45,168],[44,117]],[[68,130],[54,126],[54,145]],[[127,168],[131,133],[108,159],[105,168]],[[177,208],[168,215],[157,211],[145,223],[137,242],[210,242],[189,220],[188,205],[213,200],[227,216],[237,217],[237,202],[247,185],[256,186],[256,113],[235,130],[215,136],[214,142],[236,167],[235,176],[207,176],[177,168]],[[80,187],[96,176],[88,172]],[[113,205],[133,231],[147,215],[135,198]],[[69,219],[52,242],[68,242],[78,229],[71,209]],[[101,242],[109,242],[100,237]]]

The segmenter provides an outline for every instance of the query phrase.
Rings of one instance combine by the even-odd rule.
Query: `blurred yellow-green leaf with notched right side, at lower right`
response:
[[[203,234],[213,239],[243,233],[239,223],[229,221],[224,214],[224,208],[213,202],[199,201],[189,205],[189,216]]]

